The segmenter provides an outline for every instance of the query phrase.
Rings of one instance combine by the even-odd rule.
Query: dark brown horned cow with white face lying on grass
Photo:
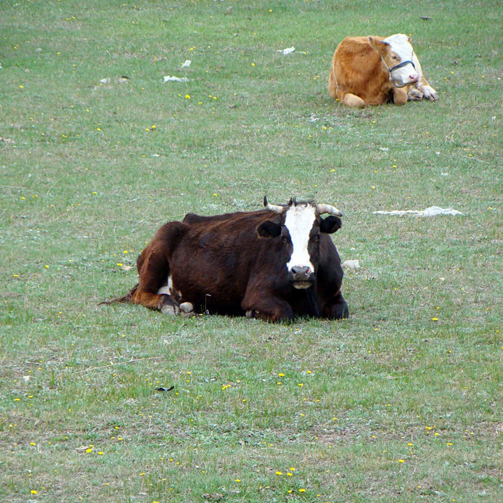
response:
[[[329,236],[342,226],[342,213],[295,199],[270,205],[264,198],[264,205],[213,217],[189,213],[164,224],[138,257],[139,283],[103,303],[268,321],[346,317],[340,257]]]

